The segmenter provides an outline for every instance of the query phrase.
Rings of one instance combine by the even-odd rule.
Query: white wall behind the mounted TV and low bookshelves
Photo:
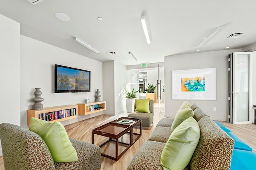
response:
[[[80,68],[91,71],[91,92],[79,93],[54,93],[54,64]],[[21,127],[27,128],[27,109],[32,109],[34,88],[41,88],[44,98],[43,107],[61,106],[67,104],[83,103],[88,97],[94,101],[96,89],[102,94],[102,62],[60,49],[53,45],[20,35],[20,72],[21,100],[20,100],[20,123]],[[108,104],[106,104],[108,106]],[[70,124],[94,115],[78,115],[78,118],[62,121],[64,125]]]

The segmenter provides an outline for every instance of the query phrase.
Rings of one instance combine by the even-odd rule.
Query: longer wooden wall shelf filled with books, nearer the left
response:
[[[68,110],[68,111],[65,111],[65,110]],[[69,112],[69,111],[71,111],[71,112]],[[62,112],[62,113],[59,113],[59,112]],[[55,115],[56,115],[56,113],[59,113],[58,116],[57,115],[53,116],[53,118],[51,118],[52,121],[50,121],[50,122],[73,119],[75,117],[78,117],[78,106],[77,105],[63,105],[63,106],[44,107],[42,110],[29,109],[29,110],[27,110],[28,125],[30,123],[31,117],[40,118],[40,114],[49,115],[49,113],[55,114]]]

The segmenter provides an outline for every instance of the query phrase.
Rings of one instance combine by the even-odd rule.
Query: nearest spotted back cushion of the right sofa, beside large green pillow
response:
[[[230,169],[234,140],[208,116],[203,116],[198,125],[201,135],[190,160],[190,169]]]

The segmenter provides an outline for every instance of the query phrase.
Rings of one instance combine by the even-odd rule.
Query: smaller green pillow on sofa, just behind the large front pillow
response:
[[[194,117],[194,111],[191,107],[186,107],[185,109],[178,110],[176,116],[174,117],[174,121],[171,126],[171,132],[180,125],[184,120],[188,119],[188,117]]]

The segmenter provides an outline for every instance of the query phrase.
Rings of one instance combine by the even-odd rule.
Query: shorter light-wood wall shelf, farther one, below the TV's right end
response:
[[[78,103],[78,115],[88,115],[106,110],[106,102]]]

